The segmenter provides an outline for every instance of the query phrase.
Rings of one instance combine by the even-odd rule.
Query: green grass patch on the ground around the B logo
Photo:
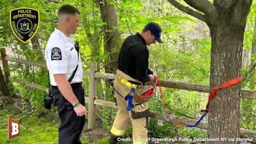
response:
[[[20,122],[19,137],[7,140],[7,118],[12,118]],[[28,111],[19,113],[12,110],[12,105],[7,105],[4,109],[0,110],[0,144],[58,143],[58,127],[60,123],[54,120],[54,117],[47,115],[38,117]],[[81,141],[83,144],[89,143],[85,139],[81,139]]]

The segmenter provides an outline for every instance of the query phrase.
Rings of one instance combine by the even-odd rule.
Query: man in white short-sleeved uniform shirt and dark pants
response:
[[[60,117],[59,143],[81,143],[79,137],[85,124],[82,62],[79,46],[72,34],[79,26],[79,11],[63,5],[58,11],[58,27],[51,34],[45,49],[45,59],[51,79],[53,105]],[[75,75],[74,75],[74,74]],[[71,82],[69,83],[68,79]]]

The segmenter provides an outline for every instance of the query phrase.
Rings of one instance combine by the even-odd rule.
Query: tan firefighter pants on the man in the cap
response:
[[[124,97],[129,94],[131,87],[123,85],[118,79],[115,79],[114,87],[114,97],[116,98],[118,111],[113,127],[111,128],[111,133],[116,136],[124,135],[129,124],[132,124],[133,143],[147,143],[149,101],[135,103],[133,100],[132,109],[127,111],[128,102],[125,101]]]

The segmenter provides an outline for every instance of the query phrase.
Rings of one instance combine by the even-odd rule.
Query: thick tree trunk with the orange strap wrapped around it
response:
[[[217,22],[210,25],[211,90],[230,79],[241,76],[242,51],[245,26]],[[241,83],[220,89],[210,103],[209,138],[239,138],[239,108]],[[215,142],[209,142],[215,143]],[[219,142],[217,142],[219,143]]]

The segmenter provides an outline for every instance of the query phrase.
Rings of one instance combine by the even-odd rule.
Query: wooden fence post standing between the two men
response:
[[[95,105],[94,99],[96,98],[96,78],[94,76],[97,71],[97,63],[90,63],[90,84],[89,84],[89,115],[88,115],[88,129],[94,129],[95,126]]]

